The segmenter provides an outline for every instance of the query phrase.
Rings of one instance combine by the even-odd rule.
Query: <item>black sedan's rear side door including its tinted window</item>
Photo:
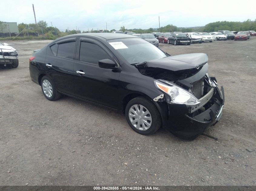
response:
[[[62,39],[47,48],[45,71],[58,91],[74,95],[73,67],[77,37]]]

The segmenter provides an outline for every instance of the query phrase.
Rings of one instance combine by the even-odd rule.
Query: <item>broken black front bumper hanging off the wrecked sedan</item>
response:
[[[209,94],[212,94],[210,92]],[[207,96],[206,96],[207,99]],[[207,104],[211,102],[211,106],[205,111],[201,110],[203,105],[198,106],[198,109],[188,109],[185,104],[168,103],[169,116],[168,121],[163,125],[164,129],[172,134],[185,139],[194,139],[202,134],[206,129],[214,126],[221,118],[222,109],[224,106],[224,90],[221,86],[221,91],[217,86],[214,87],[214,93],[210,100],[205,101]],[[206,104],[204,103],[204,104]]]

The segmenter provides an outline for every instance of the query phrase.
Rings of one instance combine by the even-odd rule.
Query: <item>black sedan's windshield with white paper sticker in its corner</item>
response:
[[[160,49],[141,38],[125,38],[107,41],[130,64],[166,57]]]

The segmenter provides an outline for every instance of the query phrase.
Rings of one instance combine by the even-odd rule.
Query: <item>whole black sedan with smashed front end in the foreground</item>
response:
[[[132,35],[89,33],[49,43],[29,70],[48,100],[65,94],[121,110],[140,134],[163,126],[194,139],[220,120],[224,105],[207,62],[203,53],[169,56]]]

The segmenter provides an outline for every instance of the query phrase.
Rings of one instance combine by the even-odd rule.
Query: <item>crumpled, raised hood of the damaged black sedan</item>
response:
[[[164,68],[178,71],[197,68],[208,62],[208,56],[204,53],[181,54],[146,62],[146,67]],[[144,62],[143,62],[144,63]],[[141,63],[141,64],[143,64]],[[138,65],[141,65],[138,64]]]

